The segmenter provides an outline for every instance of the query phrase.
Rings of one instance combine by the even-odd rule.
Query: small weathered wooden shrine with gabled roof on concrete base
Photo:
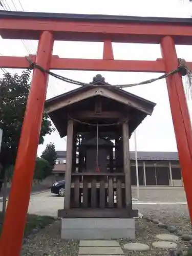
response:
[[[46,101],[60,136],[67,136],[65,203],[58,210],[62,238],[135,236],[129,139],[154,106],[101,75]]]

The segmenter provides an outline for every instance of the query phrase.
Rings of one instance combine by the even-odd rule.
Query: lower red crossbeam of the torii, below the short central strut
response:
[[[35,62],[35,55],[29,55],[29,58]],[[29,66],[26,57],[0,56],[0,68],[27,69]],[[187,62],[187,67],[192,70],[192,62]],[[164,73],[165,65],[160,58],[157,60],[75,59],[53,55],[50,70]]]

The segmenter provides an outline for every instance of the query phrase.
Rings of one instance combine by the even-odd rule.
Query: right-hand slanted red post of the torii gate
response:
[[[162,56],[166,72],[178,68],[178,58],[172,37],[165,36],[161,41]],[[179,161],[192,224],[192,131],[182,76],[177,73],[166,78],[170,110],[174,124]]]

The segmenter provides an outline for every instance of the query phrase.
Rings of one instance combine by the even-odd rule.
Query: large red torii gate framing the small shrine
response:
[[[178,68],[175,44],[192,45],[192,19],[0,11],[0,34],[39,40],[32,61],[42,68],[170,72]],[[54,40],[104,42],[103,59],[52,56]],[[163,59],[114,60],[112,42],[160,44]],[[192,70],[192,63],[187,63]],[[26,57],[0,56],[0,68],[28,68]],[[47,92],[48,75],[35,69],[20,137],[11,193],[0,240],[0,255],[19,256]],[[181,74],[166,78],[182,177],[192,220],[192,133]],[[14,251],[14,252],[13,252]]]

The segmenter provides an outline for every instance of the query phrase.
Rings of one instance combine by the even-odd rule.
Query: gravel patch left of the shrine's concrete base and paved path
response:
[[[78,242],[60,239],[60,221],[31,235],[23,244],[21,256],[65,256],[78,255]]]

